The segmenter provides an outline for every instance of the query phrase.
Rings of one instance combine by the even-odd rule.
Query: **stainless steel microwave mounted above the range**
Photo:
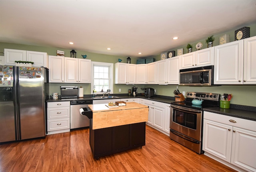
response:
[[[213,85],[214,66],[181,69],[180,84],[185,86],[211,86]]]

